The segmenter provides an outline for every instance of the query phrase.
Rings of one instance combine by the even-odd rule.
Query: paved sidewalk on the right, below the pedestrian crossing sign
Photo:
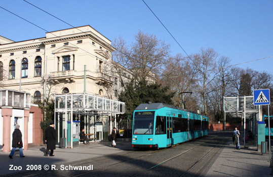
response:
[[[256,147],[244,149],[241,145],[241,150],[235,149],[230,139],[205,176],[270,176],[269,154],[261,155]]]

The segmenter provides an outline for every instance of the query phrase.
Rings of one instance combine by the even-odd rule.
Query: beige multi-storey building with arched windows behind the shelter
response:
[[[92,95],[97,100],[102,98],[103,104],[104,100],[105,104],[107,100],[116,103],[114,101],[118,101],[124,81],[130,79],[132,73],[112,61],[111,53],[114,51],[111,41],[89,25],[52,31],[46,33],[46,37],[19,42],[0,36],[0,89],[30,93],[31,104],[66,93],[88,95],[83,98],[91,98]],[[87,114],[79,110],[69,116],[73,116],[73,120],[85,117],[81,127],[94,134],[97,140],[102,140],[115,126],[112,116],[123,113],[124,109],[111,110],[110,115],[109,110],[102,111],[98,119],[97,112],[101,110],[96,110],[94,106],[89,113],[90,121],[87,121]],[[66,123],[70,120],[66,113],[58,113],[55,123],[60,117]],[[103,124],[101,134],[97,134],[96,122]],[[63,124],[65,132],[66,123]],[[66,138],[66,134],[58,135]]]

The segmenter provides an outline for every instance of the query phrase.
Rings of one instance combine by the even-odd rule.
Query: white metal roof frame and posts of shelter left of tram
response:
[[[73,114],[83,114],[86,116],[110,115],[110,130],[112,125],[112,115],[124,114],[125,113],[125,103],[120,101],[114,101],[111,99],[99,97],[90,94],[60,94],[55,95],[55,125],[58,124],[58,143],[60,138],[66,138],[65,147],[67,147],[67,122],[71,121]],[[60,137],[60,119],[59,115],[64,115],[64,137]],[[57,119],[56,119],[57,115]],[[73,118],[72,118],[73,119]],[[57,120],[57,122],[56,122]],[[87,119],[88,120],[88,119]],[[85,119],[85,125],[88,124]],[[114,121],[114,125],[116,120]],[[88,127],[90,128],[90,127]],[[72,123],[70,123],[71,132],[73,132]],[[70,140],[72,140],[72,133],[70,135]],[[71,141],[71,148],[73,144]]]

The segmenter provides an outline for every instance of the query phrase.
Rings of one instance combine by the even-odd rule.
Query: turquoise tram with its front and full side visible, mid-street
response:
[[[140,104],[134,111],[132,147],[166,148],[208,135],[209,118],[164,103]]]

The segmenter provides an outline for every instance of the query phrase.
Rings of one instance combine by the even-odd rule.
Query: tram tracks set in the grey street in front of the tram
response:
[[[155,151],[133,151],[122,155],[109,155],[91,160],[85,159],[73,164],[69,163],[71,166],[93,164],[94,169],[90,171],[42,170],[28,171],[26,173],[22,171],[21,173],[12,173],[7,176],[108,176],[109,173],[112,176],[115,174],[116,176],[165,176],[168,174],[168,171],[176,171],[173,174],[175,176],[187,176],[192,175],[192,171],[196,171],[196,167],[200,168],[200,163],[210,156],[217,147],[223,145],[226,140],[223,135],[207,136],[172,148]],[[200,155],[194,156],[194,154],[198,154],[197,152]],[[172,156],[166,158],[167,154],[172,154]],[[190,159],[188,159],[189,157]],[[56,168],[60,169],[60,166],[56,165]]]

